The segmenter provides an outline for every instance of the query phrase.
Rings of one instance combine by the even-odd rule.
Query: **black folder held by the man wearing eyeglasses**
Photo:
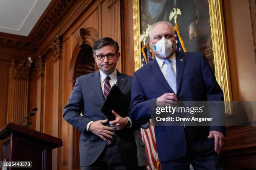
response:
[[[125,117],[124,114],[127,114],[127,110],[125,110],[126,103],[127,101],[125,100],[123,92],[121,92],[118,86],[114,84],[103,102],[100,111],[102,111],[108,117],[108,120],[113,121],[115,120],[115,116],[111,111],[114,110],[121,117]]]

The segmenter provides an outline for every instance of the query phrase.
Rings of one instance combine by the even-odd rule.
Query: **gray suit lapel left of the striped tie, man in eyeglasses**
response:
[[[98,70],[94,74],[92,74],[92,88],[95,90],[95,94],[97,94],[97,98],[101,104],[104,102],[104,96],[102,93],[101,83],[100,83],[100,71]]]

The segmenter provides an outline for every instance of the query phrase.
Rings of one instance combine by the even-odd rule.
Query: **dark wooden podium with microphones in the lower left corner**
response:
[[[0,129],[0,161],[32,161],[24,170],[51,170],[52,150],[62,145],[62,139],[14,123]]]

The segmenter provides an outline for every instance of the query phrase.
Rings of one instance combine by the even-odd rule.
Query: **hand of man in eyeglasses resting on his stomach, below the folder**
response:
[[[112,135],[114,135],[114,133],[110,131],[110,130],[113,130],[113,128],[102,125],[102,123],[106,123],[106,122],[108,122],[108,119],[98,120],[98,121],[92,122],[91,125],[89,126],[89,130],[93,134],[97,135],[98,137],[102,138],[105,141],[107,141],[105,137],[112,139],[113,138]]]

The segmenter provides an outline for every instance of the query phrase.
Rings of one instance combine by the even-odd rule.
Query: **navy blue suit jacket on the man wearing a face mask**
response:
[[[202,53],[176,52],[176,68],[178,100],[223,100],[223,92]],[[148,121],[151,117],[151,109],[154,110],[156,107],[156,99],[164,93],[173,93],[173,91],[154,59],[133,75],[129,110],[132,119],[138,122]],[[223,110],[219,112],[221,114]],[[205,152],[214,148],[214,139],[207,139],[210,130],[225,134],[223,126],[188,126],[186,128],[156,126],[156,144],[161,162],[184,157],[187,148],[185,130],[189,145],[197,152]]]

